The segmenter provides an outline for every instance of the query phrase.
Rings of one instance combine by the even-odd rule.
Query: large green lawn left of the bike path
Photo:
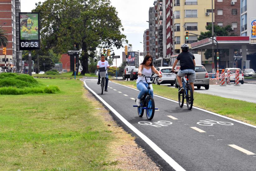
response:
[[[71,73],[65,73],[68,75]],[[1,170],[103,170],[116,165],[116,144],[133,139],[113,130],[83,82],[37,79],[57,94],[0,95]],[[112,123],[111,123],[112,125]],[[129,140],[127,140],[129,142]]]

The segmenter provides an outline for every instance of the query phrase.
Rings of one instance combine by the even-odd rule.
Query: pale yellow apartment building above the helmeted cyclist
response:
[[[174,12],[174,53],[180,53],[180,46],[183,43],[190,44],[197,42],[197,36],[189,34],[185,40],[185,31],[200,35],[206,32],[205,26],[211,22],[211,1],[205,0],[172,0]],[[214,4],[213,4],[214,7]],[[213,13],[214,15],[214,13]],[[213,17],[214,18],[214,17]],[[197,50],[189,50],[197,53]]]

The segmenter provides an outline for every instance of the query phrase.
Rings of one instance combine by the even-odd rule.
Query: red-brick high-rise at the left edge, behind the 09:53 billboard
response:
[[[0,26],[6,30],[8,45],[6,68],[11,71],[21,69],[22,54],[19,51],[19,12],[20,0],[0,0]],[[3,47],[0,47],[2,49]],[[0,54],[0,66],[5,66],[5,58]]]

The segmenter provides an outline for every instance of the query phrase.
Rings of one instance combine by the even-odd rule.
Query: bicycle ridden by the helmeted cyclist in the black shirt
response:
[[[178,74],[177,71],[173,73]],[[184,98],[186,98],[187,109],[191,110],[193,106],[194,97],[193,97],[192,87],[188,82],[189,75],[191,75],[191,73],[186,73],[185,76],[182,77],[182,85],[183,85],[184,91],[183,93],[178,93],[178,101],[179,101],[179,106],[183,107]],[[180,86],[179,86],[179,90],[180,90]]]

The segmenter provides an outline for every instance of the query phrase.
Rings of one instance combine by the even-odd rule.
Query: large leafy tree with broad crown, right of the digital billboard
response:
[[[121,48],[126,36],[121,33],[121,20],[109,0],[46,0],[36,4],[40,12],[42,48],[66,53],[81,50],[83,70],[88,73],[88,59],[96,48]]]

